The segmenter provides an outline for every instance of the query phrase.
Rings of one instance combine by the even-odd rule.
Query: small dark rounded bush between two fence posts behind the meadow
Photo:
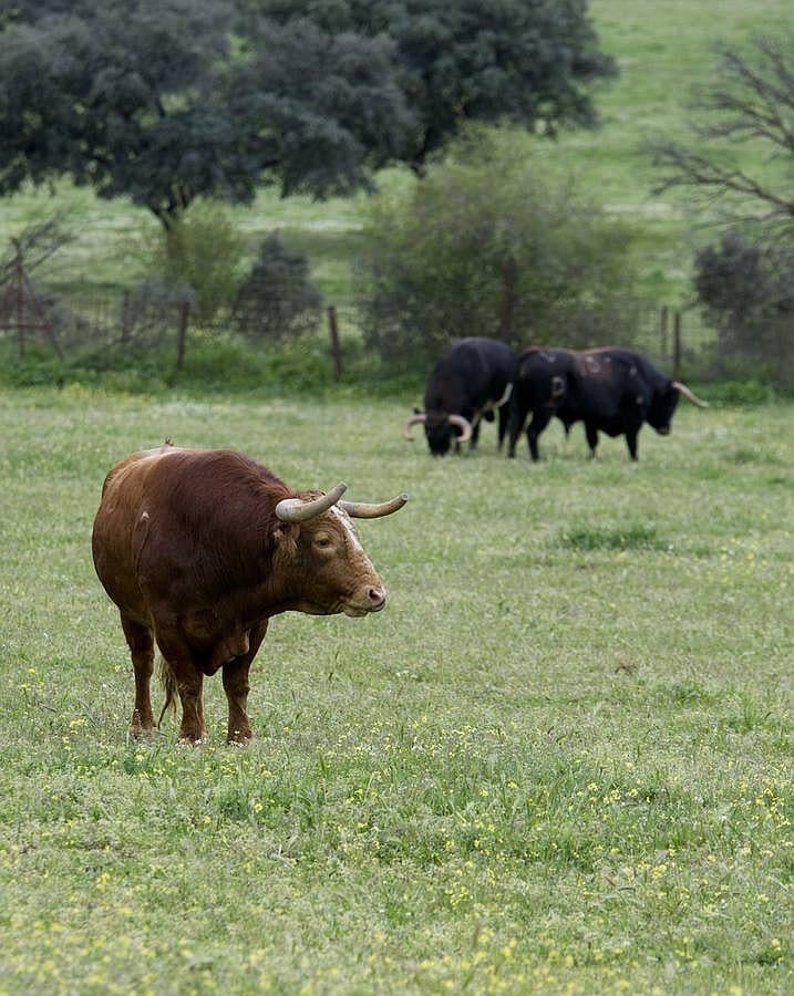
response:
[[[231,320],[249,340],[278,342],[314,331],[321,303],[306,257],[274,235],[261,243],[259,258],[237,290]]]

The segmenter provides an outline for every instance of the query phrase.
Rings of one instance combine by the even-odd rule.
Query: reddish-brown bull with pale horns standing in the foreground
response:
[[[361,616],[383,609],[383,584],[350,517],[390,515],[408,496],[369,505],[342,501],[344,490],[339,484],[327,495],[296,491],[229,449],[166,444],[113,467],[92,546],[130,645],[134,738],[154,730],[155,643],[166,708],[175,693],[182,702],[181,738],[205,738],[204,676],[223,668],[228,739],[245,743],[251,737],[248,671],[270,616],[288,610]]]

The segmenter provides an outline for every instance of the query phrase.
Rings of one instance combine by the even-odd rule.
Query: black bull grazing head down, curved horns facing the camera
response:
[[[424,391],[424,412],[409,418],[403,436],[410,440],[411,426],[421,424],[430,452],[443,456],[453,443],[476,446],[481,419],[491,422],[497,413],[501,447],[516,366],[515,354],[498,340],[457,340],[433,367]]]

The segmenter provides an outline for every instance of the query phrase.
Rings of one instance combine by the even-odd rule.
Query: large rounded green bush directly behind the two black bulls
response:
[[[633,230],[532,154],[515,133],[472,132],[408,194],[375,199],[358,268],[370,347],[402,364],[463,335],[632,341]]]

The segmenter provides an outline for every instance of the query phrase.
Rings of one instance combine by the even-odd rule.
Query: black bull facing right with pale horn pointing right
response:
[[[662,436],[679,397],[708,407],[684,384],[672,381],[641,353],[607,346],[598,350],[533,347],[518,357],[518,376],[511,406],[508,456],[527,416],[529,454],[538,459],[537,440],[553,416],[566,433],[575,422],[585,423],[590,456],[596,455],[598,433],[626,436],[631,459],[637,459],[637,436],[647,422]]]

